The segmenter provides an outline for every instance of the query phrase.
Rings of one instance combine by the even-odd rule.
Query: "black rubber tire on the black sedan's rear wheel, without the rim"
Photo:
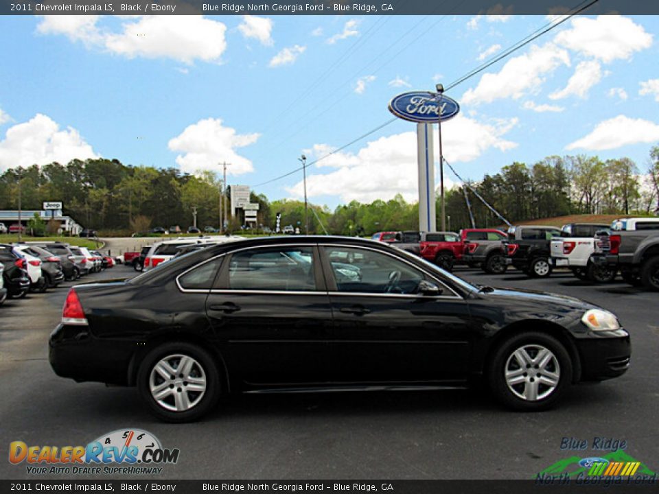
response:
[[[196,361],[196,365],[200,367],[200,375],[206,379],[206,388],[203,395],[198,398],[198,403],[194,404],[188,410],[181,412],[167,410],[151,394],[150,379],[154,366],[169,355],[192,357]],[[180,380],[180,376],[177,378]],[[174,386],[181,386],[181,384],[172,384],[169,386],[172,388],[172,397],[174,396],[174,390],[178,389],[178,393],[181,393],[181,390],[183,390],[183,386],[180,388],[174,388]],[[137,373],[137,389],[150,412],[162,421],[171,423],[192,422],[207,414],[217,404],[221,390],[220,373],[213,357],[200,346],[187,342],[168,342],[150,351],[142,360]],[[185,392],[185,396],[189,396],[187,392]]]

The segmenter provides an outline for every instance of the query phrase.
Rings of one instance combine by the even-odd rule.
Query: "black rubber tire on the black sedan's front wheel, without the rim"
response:
[[[509,386],[506,380],[506,371],[513,366],[513,364],[516,364],[517,361],[514,357],[514,353],[518,349],[533,348],[535,346],[551,351],[554,360],[551,361],[550,364],[557,362],[557,366],[553,366],[553,372],[555,374],[557,373],[559,377],[556,386],[553,387],[553,390],[545,397],[540,397],[535,400],[524,399],[516,393],[526,395],[527,386],[531,386],[531,381],[537,379],[538,375],[540,375],[540,379],[542,379],[541,373],[531,365],[531,368],[528,371],[529,375],[523,375],[523,379],[525,380],[524,383]],[[527,355],[531,354],[527,352]],[[537,354],[535,354],[535,357],[537,357]],[[518,370],[524,369],[520,368]],[[490,390],[492,390],[496,399],[503,405],[513,410],[537,412],[551,408],[551,406],[560,399],[561,395],[572,381],[572,372],[572,360],[570,360],[570,355],[559,340],[546,333],[528,331],[513,335],[498,346],[494,351],[494,355],[492,355],[492,359],[487,368],[487,381],[489,382]],[[522,386],[524,392],[521,392]],[[542,384],[540,380],[537,381],[535,386],[538,395],[544,394],[544,392],[549,389],[548,386]]]

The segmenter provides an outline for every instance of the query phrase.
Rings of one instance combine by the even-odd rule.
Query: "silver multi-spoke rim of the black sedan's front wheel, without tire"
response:
[[[513,351],[505,366],[508,389],[524,401],[540,401],[557,388],[561,369],[556,355],[539,344],[527,344]]]

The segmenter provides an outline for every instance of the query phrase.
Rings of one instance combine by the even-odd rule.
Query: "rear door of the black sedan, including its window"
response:
[[[230,373],[244,386],[314,386],[327,379],[332,309],[314,244],[228,255],[207,316]]]

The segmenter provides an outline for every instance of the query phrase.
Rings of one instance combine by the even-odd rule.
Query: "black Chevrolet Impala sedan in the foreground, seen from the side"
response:
[[[183,422],[222,393],[480,379],[510,408],[544,410],[571,383],[625,373],[630,351],[616,316],[575,298],[472,285],[381,242],[268,237],[74,287],[49,357]]]

